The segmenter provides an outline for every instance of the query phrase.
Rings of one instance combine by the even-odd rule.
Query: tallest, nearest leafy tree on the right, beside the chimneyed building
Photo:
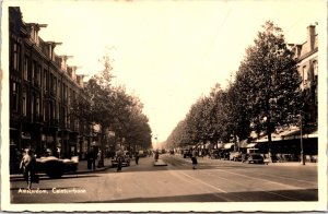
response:
[[[237,72],[238,91],[246,97],[245,107],[251,120],[260,123],[268,135],[277,127],[295,123],[300,112],[301,76],[293,52],[286,47],[282,29],[268,21],[258,33],[255,45]]]

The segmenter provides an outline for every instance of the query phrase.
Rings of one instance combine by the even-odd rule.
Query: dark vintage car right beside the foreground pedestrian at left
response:
[[[36,171],[45,173],[49,178],[60,178],[63,174],[78,170],[79,157],[60,159],[55,156],[36,158]]]

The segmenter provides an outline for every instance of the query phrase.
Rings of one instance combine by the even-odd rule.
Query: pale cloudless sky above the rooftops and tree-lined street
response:
[[[325,1],[8,1],[26,23],[48,24],[39,36],[62,43],[57,55],[90,76],[109,55],[116,84],[144,105],[153,136],[165,141],[190,106],[216,83],[224,88],[266,21],[291,44],[323,21]],[[326,16],[325,16],[326,17]],[[323,23],[323,22],[321,22]]]

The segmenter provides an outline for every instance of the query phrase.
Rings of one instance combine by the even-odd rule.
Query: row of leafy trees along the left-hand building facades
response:
[[[98,124],[102,160],[105,143],[109,141],[108,131],[115,133],[115,139],[130,148],[149,148],[151,128],[148,117],[142,112],[143,104],[138,97],[126,92],[125,86],[113,85],[114,75],[109,57],[102,60],[104,70],[93,75],[84,85],[86,98],[75,99],[72,104],[72,117],[90,124]]]

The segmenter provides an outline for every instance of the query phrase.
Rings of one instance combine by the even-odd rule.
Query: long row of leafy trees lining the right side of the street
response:
[[[271,133],[300,124],[304,106],[294,54],[282,29],[268,21],[226,88],[216,84],[200,97],[166,140],[166,147],[247,139],[250,131]]]

